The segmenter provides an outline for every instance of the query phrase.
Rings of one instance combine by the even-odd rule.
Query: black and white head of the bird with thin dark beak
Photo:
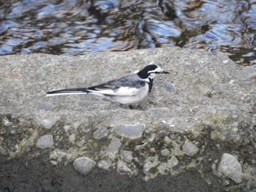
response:
[[[149,78],[151,80],[153,80],[157,74],[169,74],[169,72],[163,71],[161,67],[154,64],[149,64],[148,66],[145,66],[143,69],[141,69],[140,72],[138,72],[140,78]]]

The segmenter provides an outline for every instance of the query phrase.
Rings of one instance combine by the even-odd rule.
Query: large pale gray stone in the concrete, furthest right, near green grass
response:
[[[236,183],[243,182],[243,169],[237,159],[228,153],[222,154],[222,159],[219,162],[218,172],[224,174]]]

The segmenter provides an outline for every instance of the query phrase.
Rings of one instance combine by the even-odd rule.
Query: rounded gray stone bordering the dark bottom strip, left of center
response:
[[[95,161],[89,157],[80,157],[75,159],[73,166],[77,172],[86,175],[94,168],[95,164]]]

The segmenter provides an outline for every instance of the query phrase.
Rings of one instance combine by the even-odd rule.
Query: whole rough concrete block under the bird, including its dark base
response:
[[[45,97],[47,91],[97,85],[151,62],[170,74],[156,77],[148,98],[133,110],[91,95]],[[255,66],[238,66],[224,53],[178,47],[81,57],[5,55],[0,63],[0,191],[256,186]],[[136,124],[145,125],[142,133],[121,126]],[[36,147],[45,135],[52,136],[50,143],[44,140],[47,148]],[[236,156],[241,180],[218,172],[223,153]],[[73,164],[81,157],[100,169],[79,174]],[[41,173],[32,182],[34,172],[49,177]]]

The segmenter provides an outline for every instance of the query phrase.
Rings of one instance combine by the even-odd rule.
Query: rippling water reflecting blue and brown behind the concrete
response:
[[[256,1],[0,1],[0,55],[179,46],[256,64]]]

